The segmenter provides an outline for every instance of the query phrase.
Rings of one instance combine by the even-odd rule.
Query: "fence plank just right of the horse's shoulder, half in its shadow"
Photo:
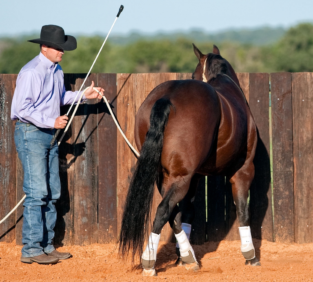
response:
[[[269,74],[249,74],[249,107],[258,131],[254,180],[250,188],[252,238],[273,241],[272,191],[269,160]]]

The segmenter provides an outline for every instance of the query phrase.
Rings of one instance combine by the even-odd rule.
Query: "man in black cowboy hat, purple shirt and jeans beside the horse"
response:
[[[77,43],[56,25],[43,26],[40,38],[29,41],[40,44],[41,51],[18,74],[11,107],[11,119],[17,120],[14,141],[23,165],[26,194],[21,261],[54,264],[71,254],[58,252],[52,243],[56,222],[54,204],[60,197],[61,185],[58,145],[50,142],[56,130],[67,124],[68,117],[60,116],[60,106],[71,104],[77,94],[77,91],[65,91],[64,75],[58,63],[64,50],[76,49]],[[93,86],[92,81],[84,100],[102,98]],[[103,95],[103,88],[96,89]]]

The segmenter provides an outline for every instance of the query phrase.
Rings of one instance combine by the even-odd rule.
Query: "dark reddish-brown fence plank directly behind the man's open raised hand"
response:
[[[98,85],[116,117],[116,74],[98,74]],[[107,105],[98,103],[98,243],[117,240],[117,131]],[[120,134],[120,132],[118,132]]]

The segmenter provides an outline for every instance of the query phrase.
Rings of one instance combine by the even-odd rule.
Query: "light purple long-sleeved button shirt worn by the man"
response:
[[[11,119],[52,129],[55,119],[60,116],[60,106],[71,104],[77,92],[65,91],[61,66],[40,52],[18,74]],[[76,103],[78,99],[79,96]],[[86,100],[85,95],[83,100]]]

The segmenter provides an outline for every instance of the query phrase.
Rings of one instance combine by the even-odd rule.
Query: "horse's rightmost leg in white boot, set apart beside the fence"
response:
[[[245,163],[237,171],[230,182],[232,184],[233,199],[236,205],[237,218],[239,221],[239,234],[241,240],[241,253],[246,259],[246,264],[260,265],[259,259],[255,257],[249,226],[248,192],[254,177],[254,165],[252,162]]]

